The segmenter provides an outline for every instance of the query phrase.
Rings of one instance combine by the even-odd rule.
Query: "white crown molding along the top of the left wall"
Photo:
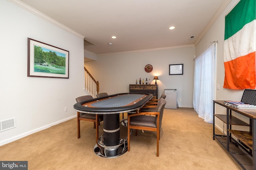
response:
[[[8,1],[11,2],[11,3],[13,3],[13,4],[15,4],[15,5],[17,5],[17,6],[19,6],[20,8],[23,8],[24,10],[26,10],[26,11],[28,11],[28,12],[34,14],[34,15],[36,15],[36,16],[42,18],[43,20],[46,20],[46,21],[52,23],[53,25],[56,25],[57,27],[59,27],[59,28],[61,28],[61,29],[64,29],[65,31],[67,31],[67,32],[69,32],[69,33],[71,33],[71,34],[73,34],[73,35],[76,35],[76,36],[79,37],[79,38],[84,39],[84,36],[83,36],[83,35],[77,33],[76,31],[70,29],[69,27],[63,25],[62,23],[59,23],[58,21],[56,21],[56,20],[50,18],[49,16],[46,16],[45,14],[43,14],[42,12],[40,12],[40,11],[38,11],[38,10],[32,8],[31,6],[28,6],[28,5],[25,4],[24,2],[21,2],[20,0],[8,0]]]

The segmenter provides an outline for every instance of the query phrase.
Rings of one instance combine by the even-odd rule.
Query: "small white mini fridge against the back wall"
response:
[[[164,94],[166,95],[166,105],[164,108],[166,109],[177,109],[177,90],[176,89],[166,89],[164,90]]]

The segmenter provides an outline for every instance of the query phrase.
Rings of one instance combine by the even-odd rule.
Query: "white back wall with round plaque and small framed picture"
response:
[[[85,62],[86,69],[100,83],[100,92],[108,94],[129,92],[136,79],[158,76],[159,96],[164,89],[177,89],[180,107],[193,107],[195,47],[180,47],[158,51],[137,51],[97,56],[97,61]],[[153,66],[145,72],[147,64]],[[183,75],[169,75],[169,64],[184,64]],[[179,101],[181,99],[181,101]]]

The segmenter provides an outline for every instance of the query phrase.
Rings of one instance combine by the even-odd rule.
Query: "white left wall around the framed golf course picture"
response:
[[[0,21],[0,121],[16,118],[16,128],[0,132],[4,145],[76,116],[75,98],[84,95],[84,40],[7,0],[0,1]],[[68,79],[27,77],[28,37],[70,52]]]

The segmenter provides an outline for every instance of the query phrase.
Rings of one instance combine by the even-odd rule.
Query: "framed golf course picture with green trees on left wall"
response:
[[[69,51],[28,38],[28,77],[68,78]]]

